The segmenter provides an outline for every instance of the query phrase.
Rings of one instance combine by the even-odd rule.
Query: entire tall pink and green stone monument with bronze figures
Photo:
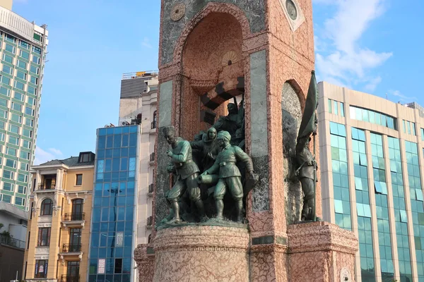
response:
[[[134,251],[139,281],[353,281],[358,240],[300,223],[310,168],[290,180],[313,152],[300,123],[312,1],[162,0],[160,20],[155,230]]]

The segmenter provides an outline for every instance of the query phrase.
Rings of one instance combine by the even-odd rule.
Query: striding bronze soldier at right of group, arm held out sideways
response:
[[[218,146],[222,148],[222,152],[216,157],[215,164],[202,175],[219,174],[219,180],[216,184],[213,197],[216,201],[216,219],[223,220],[224,202],[223,198],[225,192],[229,190],[232,198],[235,200],[235,209],[237,212],[237,222],[242,222],[243,215],[243,187],[237,161],[245,164],[246,171],[251,178],[255,178],[253,173],[252,159],[243,152],[240,147],[230,145],[231,135],[227,131],[220,131],[218,133]]]

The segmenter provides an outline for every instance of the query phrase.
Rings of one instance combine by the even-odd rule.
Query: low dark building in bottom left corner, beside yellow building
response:
[[[28,212],[0,202],[0,281],[22,279]]]

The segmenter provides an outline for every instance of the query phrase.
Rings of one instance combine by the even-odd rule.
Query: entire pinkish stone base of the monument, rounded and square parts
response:
[[[134,252],[139,281],[355,281],[358,239],[351,231],[313,222],[290,225],[287,235],[287,243],[251,244],[245,228],[165,228]]]

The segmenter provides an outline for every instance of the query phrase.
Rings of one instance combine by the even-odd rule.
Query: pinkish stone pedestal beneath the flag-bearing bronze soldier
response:
[[[288,226],[288,281],[353,282],[358,239],[326,222]]]

